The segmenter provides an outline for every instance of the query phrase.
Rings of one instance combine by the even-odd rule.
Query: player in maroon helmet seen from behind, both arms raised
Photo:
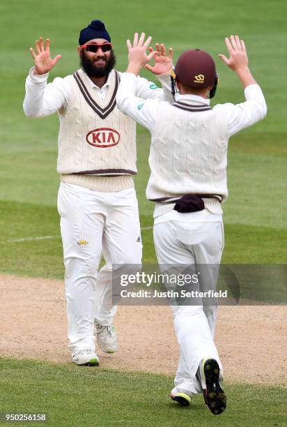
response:
[[[248,68],[245,43],[238,36],[226,38],[229,58],[219,57],[238,75],[246,101],[210,107],[217,73],[212,57],[201,50],[187,50],[179,57],[172,80],[173,93],[178,90],[175,102],[139,97],[137,76],[150,59],[146,55],[150,38],[145,42],[142,34],[136,41],[132,46],[127,40],[129,64],[121,77],[117,105],[151,133],[146,196],[155,202],[157,260],[160,266],[178,264],[183,269],[218,265],[224,248],[221,202],[228,196],[228,139],[267,112],[261,88]],[[214,287],[216,275],[209,280],[207,285]],[[173,304],[171,309],[180,345],[171,398],[189,405],[194,394],[203,393],[212,414],[220,414],[226,396],[219,383],[222,363],[214,342],[216,306]]]

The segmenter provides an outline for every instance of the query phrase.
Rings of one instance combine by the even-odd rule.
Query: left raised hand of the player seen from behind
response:
[[[144,41],[146,37],[145,33],[141,33],[139,38],[138,33],[134,33],[134,43],[127,40],[127,50],[128,50],[128,61],[129,66],[127,67],[127,72],[130,73],[139,73],[139,70],[152,59],[157,52],[150,52],[150,54],[146,54],[146,50],[148,49],[148,45],[150,44],[151,37],[148,36],[146,41]]]

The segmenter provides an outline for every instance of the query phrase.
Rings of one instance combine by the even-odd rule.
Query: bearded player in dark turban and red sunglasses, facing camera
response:
[[[68,338],[72,361],[97,366],[98,345],[117,350],[111,303],[112,264],[141,264],[141,230],[133,176],[136,165],[136,122],[116,107],[121,73],[104,23],[93,20],[79,34],[81,68],[47,84],[54,59],[49,39],[30,49],[35,66],[26,78],[24,112],[60,121],[57,171],[61,177],[58,210],[65,263]],[[157,74],[172,59],[157,55]],[[153,82],[137,78],[140,98],[162,98]],[[98,273],[100,259],[106,264]]]

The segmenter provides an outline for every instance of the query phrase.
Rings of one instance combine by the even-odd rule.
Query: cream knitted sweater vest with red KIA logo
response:
[[[59,110],[57,171],[63,181],[83,186],[90,186],[94,176],[132,180],[137,173],[136,123],[116,108],[119,75],[111,71],[104,100],[87,79],[82,69],[68,79],[70,103]]]

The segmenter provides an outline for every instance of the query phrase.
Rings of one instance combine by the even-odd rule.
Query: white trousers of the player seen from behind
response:
[[[206,214],[203,213],[204,218]],[[193,213],[166,213],[166,222],[156,222],[154,241],[157,260],[163,264],[178,264],[185,267],[194,264],[219,264],[224,246],[224,230],[221,216],[217,222],[193,222]],[[171,218],[171,219],[169,219]],[[183,220],[180,220],[183,219]],[[200,220],[200,213],[196,212]],[[219,220],[218,220],[219,219]],[[210,267],[215,268],[215,265]],[[217,273],[204,269],[205,289],[215,289]],[[209,282],[209,283],[207,283]],[[213,282],[213,283],[212,283]],[[217,306],[199,305],[171,306],[173,324],[180,345],[180,359],[175,378],[176,388],[188,390],[194,394],[201,392],[201,382],[196,372],[206,357],[212,357],[222,364],[214,343]]]

